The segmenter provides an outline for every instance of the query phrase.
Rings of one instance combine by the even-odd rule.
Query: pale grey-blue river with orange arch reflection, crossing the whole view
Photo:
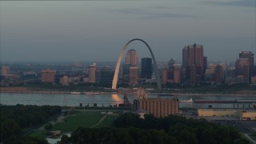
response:
[[[149,94],[149,98],[173,98],[171,96],[161,96],[156,94]],[[133,103],[135,94],[127,94],[130,103]],[[192,98],[200,100],[256,100],[256,96],[241,96],[241,95],[198,95],[198,96],[178,96],[180,100],[187,100]],[[99,95],[85,95],[85,94],[20,94],[20,93],[0,93],[0,103],[2,105],[50,105],[50,106],[115,106],[123,102],[122,94],[99,94]],[[180,102],[180,108],[251,108],[251,103],[195,103],[195,102]]]

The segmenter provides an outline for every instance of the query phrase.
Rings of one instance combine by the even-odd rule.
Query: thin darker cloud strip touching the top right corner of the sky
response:
[[[204,4],[212,4],[218,6],[247,6],[247,7],[254,7],[255,2],[254,0],[239,0],[239,1],[230,1],[230,2],[201,2]]]

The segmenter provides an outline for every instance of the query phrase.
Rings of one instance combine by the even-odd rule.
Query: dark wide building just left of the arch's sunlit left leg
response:
[[[114,70],[110,67],[102,67],[101,70],[101,84],[102,86],[111,86],[114,77]]]

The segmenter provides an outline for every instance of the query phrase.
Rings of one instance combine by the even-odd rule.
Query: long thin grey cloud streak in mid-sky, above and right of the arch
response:
[[[162,9],[166,11],[167,9],[170,10],[172,7],[168,6],[154,6],[151,7],[154,9]],[[156,12],[150,11],[150,10],[144,10],[144,9],[138,9],[138,8],[123,8],[123,9],[115,9],[115,10],[108,10],[110,12],[115,13],[121,13],[121,14],[134,14],[138,18],[144,18],[144,19],[151,19],[151,18],[200,18],[198,16],[189,15],[189,14],[175,14],[172,12],[161,12],[160,10],[157,10]]]

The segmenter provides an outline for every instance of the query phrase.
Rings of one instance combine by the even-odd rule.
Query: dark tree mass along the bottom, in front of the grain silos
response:
[[[155,118],[146,114],[122,114],[114,121],[114,128],[78,128],[71,137],[62,136],[59,144],[66,143],[249,143],[238,130],[230,126],[220,126],[205,119],[186,119],[170,115]]]

